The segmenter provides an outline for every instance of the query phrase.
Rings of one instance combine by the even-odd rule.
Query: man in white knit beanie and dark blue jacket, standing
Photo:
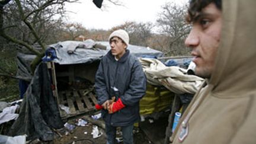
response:
[[[110,34],[111,50],[100,62],[95,75],[95,92],[101,109],[107,143],[116,143],[121,127],[123,143],[133,143],[133,124],[140,120],[139,100],[146,91],[146,76],[137,57],[130,54],[129,35],[124,30]]]

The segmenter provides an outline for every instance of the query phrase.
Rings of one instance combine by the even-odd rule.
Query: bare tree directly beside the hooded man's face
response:
[[[190,31],[190,25],[184,20],[185,9],[187,9],[185,5],[168,2],[162,6],[162,11],[159,13],[156,23],[160,32],[168,38],[168,47],[165,47],[166,55],[187,54],[188,49],[185,49],[184,39]]]

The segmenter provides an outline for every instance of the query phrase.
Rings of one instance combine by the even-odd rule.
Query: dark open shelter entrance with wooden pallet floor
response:
[[[50,62],[49,68],[52,69],[52,81],[55,85],[53,93],[62,119],[95,113],[97,97],[94,92],[94,76],[98,65],[99,61],[75,65]]]

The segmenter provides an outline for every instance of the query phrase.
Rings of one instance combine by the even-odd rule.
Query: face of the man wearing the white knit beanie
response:
[[[110,40],[110,47],[112,55],[120,59],[124,55],[127,46],[118,37],[113,37]]]

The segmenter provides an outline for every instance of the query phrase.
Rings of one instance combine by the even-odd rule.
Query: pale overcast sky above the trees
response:
[[[106,8],[97,8],[92,0],[81,0],[80,3],[66,4],[69,22],[80,23],[85,28],[108,30],[126,21],[137,23],[155,23],[161,6],[166,2],[184,5],[188,0],[120,0],[124,7],[103,1]]]

